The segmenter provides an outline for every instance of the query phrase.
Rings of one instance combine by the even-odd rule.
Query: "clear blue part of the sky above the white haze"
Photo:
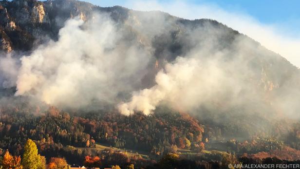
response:
[[[143,0],[85,0],[99,6],[121,5],[133,8],[134,1]],[[174,0],[144,0],[172,3]],[[210,4],[228,12],[249,15],[264,24],[280,25],[287,36],[300,37],[300,0],[181,0],[190,5]]]

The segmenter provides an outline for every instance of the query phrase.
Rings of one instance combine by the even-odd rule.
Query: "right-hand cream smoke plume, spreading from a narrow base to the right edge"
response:
[[[299,72],[278,69],[287,68],[288,61],[243,35],[224,42],[228,32],[209,23],[185,31],[192,47],[157,73],[153,87],[133,92],[131,100],[120,103],[120,113],[150,114],[157,106],[168,105],[196,115],[206,107],[214,114],[243,113],[271,120],[280,112],[287,118],[299,117]]]

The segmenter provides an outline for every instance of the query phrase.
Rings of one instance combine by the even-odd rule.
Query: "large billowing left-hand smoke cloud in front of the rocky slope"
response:
[[[15,95],[61,108],[114,102],[118,94],[140,83],[150,60],[142,44],[127,34],[103,14],[94,14],[87,23],[68,20],[58,41],[21,58]]]

